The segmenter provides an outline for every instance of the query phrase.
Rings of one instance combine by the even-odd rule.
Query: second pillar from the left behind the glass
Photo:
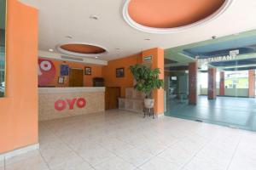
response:
[[[216,68],[208,69],[208,99],[216,99]]]

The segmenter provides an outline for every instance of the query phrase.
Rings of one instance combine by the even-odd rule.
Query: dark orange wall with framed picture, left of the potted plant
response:
[[[122,59],[108,61],[108,65],[102,68],[102,75],[105,79],[106,87],[120,87],[121,97],[125,97],[125,88],[133,87],[133,76],[129,67],[136,65],[142,58],[141,54],[131,55]],[[117,68],[125,68],[125,77],[117,78],[115,71]]]

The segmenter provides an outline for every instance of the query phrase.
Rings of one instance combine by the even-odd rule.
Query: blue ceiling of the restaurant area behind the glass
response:
[[[236,70],[238,67],[240,70],[254,68],[256,66],[256,30],[168,48],[165,50],[166,59],[172,59],[177,63],[165,64],[165,67],[166,70],[169,70],[170,67],[188,65],[195,59],[214,57],[217,59],[219,56],[229,56],[230,51],[234,50],[239,50],[239,54],[235,58],[211,61],[207,65],[225,71]],[[201,63],[199,60],[199,67],[204,67],[202,65],[205,63]]]

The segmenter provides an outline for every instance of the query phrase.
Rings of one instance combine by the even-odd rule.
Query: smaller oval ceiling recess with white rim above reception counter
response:
[[[57,49],[63,54],[81,57],[96,57],[108,53],[106,48],[99,45],[79,42],[61,44],[57,46]]]

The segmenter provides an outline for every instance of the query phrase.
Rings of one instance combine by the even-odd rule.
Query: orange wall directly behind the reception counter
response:
[[[82,63],[74,63],[74,62],[68,62],[68,61],[63,62],[61,60],[56,60],[56,59],[47,59],[47,60],[51,60],[52,63],[55,65],[55,69],[56,69],[55,79],[52,82],[50,82],[48,86],[68,87],[68,76],[65,77],[64,84],[58,83],[58,77],[60,77],[61,65],[63,64],[69,65],[69,68],[79,68],[83,70],[85,66],[91,68],[91,75],[84,75],[84,87],[92,87],[93,78],[102,77],[102,66],[100,65],[84,65]]]

